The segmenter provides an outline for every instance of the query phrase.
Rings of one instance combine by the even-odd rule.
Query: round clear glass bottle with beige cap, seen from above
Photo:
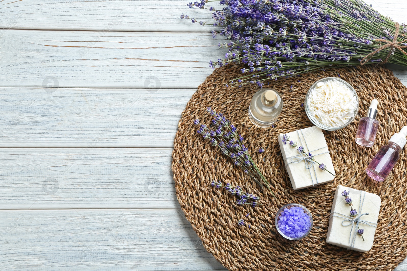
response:
[[[281,95],[274,89],[260,89],[254,93],[249,106],[249,118],[253,124],[266,128],[276,123],[282,111]]]

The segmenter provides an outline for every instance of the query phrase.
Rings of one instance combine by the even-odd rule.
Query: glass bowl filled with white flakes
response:
[[[328,131],[351,124],[359,111],[359,99],[345,80],[326,77],[316,81],[305,96],[305,112],[311,122]]]

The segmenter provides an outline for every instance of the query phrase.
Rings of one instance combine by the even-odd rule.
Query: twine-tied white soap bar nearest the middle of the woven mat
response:
[[[279,134],[278,143],[294,190],[330,182],[335,178],[335,169],[320,128],[313,126]],[[303,148],[303,154],[299,147]],[[317,162],[327,170],[322,170]]]

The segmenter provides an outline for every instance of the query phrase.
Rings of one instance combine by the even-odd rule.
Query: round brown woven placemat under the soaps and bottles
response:
[[[194,93],[182,113],[175,136],[172,169],[179,204],[204,247],[229,270],[393,270],[403,261],[406,248],[406,156],[404,149],[392,174],[382,183],[365,174],[374,154],[389,138],[406,125],[407,89],[384,67],[365,65],[306,74],[273,81],[270,87],[282,94],[284,109],[274,128],[258,128],[247,110],[255,85],[231,89],[225,85],[241,74],[239,66],[216,69]],[[348,127],[324,131],[337,173],[333,182],[315,188],[293,191],[281,157],[277,136],[313,126],[302,103],[313,82],[327,76],[340,76],[357,91],[359,115]],[[292,86],[292,88],[291,88]],[[372,148],[354,142],[361,115],[370,101],[379,100],[380,121]],[[276,198],[261,189],[219,150],[197,134],[195,119],[209,124],[211,106],[224,113],[245,138],[249,153],[273,186]],[[259,153],[259,147],[265,149]],[[304,173],[305,174],[305,173]],[[212,180],[242,186],[261,197],[263,205],[236,206],[236,198],[224,189],[210,185]],[[366,253],[347,250],[325,242],[333,196],[338,184],[376,193],[381,197],[374,245]],[[289,241],[276,233],[275,214],[284,204],[300,203],[313,215],[311,233],[300,241]],[[249,214],[248,217],[245,217]],[[237,225],[239,219],[244,226]],[[250,225],[250,227],[249,227]]]

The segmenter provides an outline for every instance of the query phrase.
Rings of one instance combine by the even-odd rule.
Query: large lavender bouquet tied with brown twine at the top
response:
[[[407,26],[361,0],[200,0],[188,6],[208,9],[208,2],[225,5],[221,11],[210,7],[213,25],[221,26],[212,35],[230,40],[219,44],[228,49],[225,59],[210,66],[247,64],[232,85],[263,86],[270,79],[372,62],[407,65]]]

